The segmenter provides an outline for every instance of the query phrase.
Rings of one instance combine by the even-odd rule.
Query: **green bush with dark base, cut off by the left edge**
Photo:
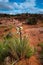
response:
[[[0,41],[0,62],[4,61],[5,57],[8,56],[8,45],[3,41]]]

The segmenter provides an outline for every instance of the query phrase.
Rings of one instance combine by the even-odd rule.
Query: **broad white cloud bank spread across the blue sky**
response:
[[[0,0],[0,2],[4,2],[5,4],[1,4],[4,8],[9,9],[10,11],[3,11],[9,14],[17,14],[17,13],[41,13],[43,9],[36,7],[36,0],[25,0],[22,3],[10,3],[9,0]]]

